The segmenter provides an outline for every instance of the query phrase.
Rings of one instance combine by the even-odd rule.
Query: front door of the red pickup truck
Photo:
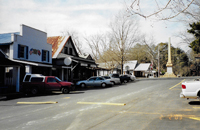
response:
[[[47,78],[46,86],[47,86],[46,89],[49,89],[49,90],[59,90],[60,87],[61,87],[61,85],[53,77],[48,77]]]

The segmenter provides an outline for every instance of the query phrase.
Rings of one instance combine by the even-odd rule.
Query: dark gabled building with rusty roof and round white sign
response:
[[[79,55],[71,36],[48,37],[52,45],[52,75],[76,82],[96,76],[96,63],[90,55]]]

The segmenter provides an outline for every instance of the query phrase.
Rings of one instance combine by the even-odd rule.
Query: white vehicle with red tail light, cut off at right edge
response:
[[[182,92],[180,93],[181,98],[192,98],[197,99],[200,97],[200,81],[187,81],[182,83]]]

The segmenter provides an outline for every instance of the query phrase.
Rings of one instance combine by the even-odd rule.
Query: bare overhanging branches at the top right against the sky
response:
[[[146,8],[147,4],[150,5],[148,9]],[[199,0],[133,0],[127,5],[127,11],[131,15],[137,14],[145,19],[169,20],[184,14],[189,18],[198,20],[200,18],[199,7]],[[148,10],[148,12],[145,10]]]

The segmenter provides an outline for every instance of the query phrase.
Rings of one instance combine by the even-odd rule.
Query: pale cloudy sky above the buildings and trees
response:
[[[46,32],[48,37],[62,35],[68,29],[76,30],[80,37],[89,37],[108,31],[112,18],[130,5],[130,1],[0,0],[0,34],[19,32],[20,25],[25,24]],[[148,2],[145,6],[152,7]],[[144,18],[139,20],[141,33],[153,35],[155,44],[168,42],[170,37],[173,46],[180,45],[177,34],[185,29],[182,24]],[[188,47],[182,46],[182,49],[188,50]]]

